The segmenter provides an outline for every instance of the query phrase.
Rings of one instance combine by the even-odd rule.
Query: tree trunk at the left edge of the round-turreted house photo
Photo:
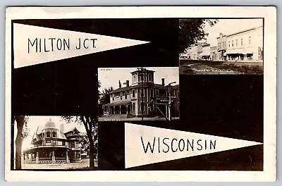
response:
[[[16,137],[16,169],[22,169],[22,145],[23,139],[27,137],[29,128],[27,128],[28,116],[14,116],[13,122],[17,123],[17,137]]]

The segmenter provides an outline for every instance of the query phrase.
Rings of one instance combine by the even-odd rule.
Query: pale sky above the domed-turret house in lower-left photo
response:
[[[23,139],[23,147],[22,147],[23,150],[32,147],[32,144],[30,144],[30,142],[32,140],[33,134],[37,130],[37,127],[41,124],[47,123],[47,121],[50,118],[57,126],[60,126],[61,123],[66,123],[64,120],[61,119],[61,116],[30,116],[27,122],[27,128],[30,129],[30,132],[29,132],[29,135],[25,139]],[[82,124],[80,125],[79,123],[67,123],[64,128],[68,129],[68,128],[73,128],[73,127],[78,128],[80,132],[85,132],[84,125]],[[16,126],[15,126],[14,136],[15,136],[14,139],[16,139],[16,136],[17,136]]]

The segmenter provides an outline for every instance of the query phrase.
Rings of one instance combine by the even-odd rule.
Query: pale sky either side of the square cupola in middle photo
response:
[[[145,67],[146,68],[146,67]],[[170,82],[179,84],[179,71],[178,67],[148,67],[147,70],[154,70],[154,83],[161,84],[161,78],[164,78],[165,85]],[[121,87],[125,87],[123,82],[129,80],[129,85],[132,85],[131,72],[137,70],[137,68],[99,68],[98,69],[98,80],[101,82],[100,90],[104,88],[113,87],[118,88],[118,80],[121,80]]]

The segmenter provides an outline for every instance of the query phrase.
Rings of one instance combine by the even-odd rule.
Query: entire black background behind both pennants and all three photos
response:
[[[97,116],[97,68],[178,66],[178,19],[13,23],[150,43],[17,69],[12,63],[12,115]],[[134,123],[263,142],[263,75],[180,75],[180,120]],[[100,122],[98,133],[99,169],[124,170],[123,122]],[[126,170],[262,171],[262,155],[262,145],[258,145]]]

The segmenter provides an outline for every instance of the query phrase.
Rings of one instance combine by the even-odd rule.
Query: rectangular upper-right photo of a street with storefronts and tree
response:
[[[263,74],[262,18],[180,19],[178,40],[180,74]]]

